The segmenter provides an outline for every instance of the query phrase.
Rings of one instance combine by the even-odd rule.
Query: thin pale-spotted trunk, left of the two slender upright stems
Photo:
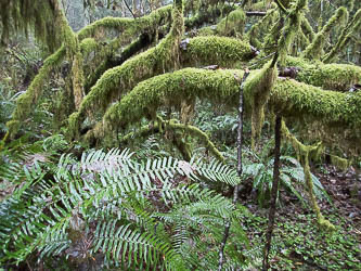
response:
[[[240,88],[240,105],[238,105],[238,127],[237,127],[237,175],[241,179],[242,176],[242,137],[243,137],[243,89],[244,89],[244,83],[249,75],[249,70],[246,69],[242,81],[241,81],[241,88]],[[238,190],[240,185],[235,185],[234,191],[233,191],[233,204],[236,204],[238,201]],[[224,261],[224,247],[227,244],[228,236],[230,234],[230,228],[231,228],[231,221],[228,219],[224,222],[224,233],[223,233],[223,240],[221,243],[221,247],[219,250],[219,261],[218,261],[218,271],[222,270],[223,267],[223,261]]]

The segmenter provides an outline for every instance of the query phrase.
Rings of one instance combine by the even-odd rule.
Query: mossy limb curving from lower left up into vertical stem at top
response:
[[[79,105],[79,114],[74,116],[82,118],[86,113],[92,111],[92,107],[95,106],[98,112],[104,112],[115,98],[121,95],[121,91],[127,92],[139,81],[179,66],[179,43],[184,28],[181,1],[180,5],[176,2],[175,7],[172,12],[173,23],[167,37],[155,48],[126,61],[118,67],[107,69],[85,96]],[[82,120],[83,118],[73,122],[79,124]],[[77,131],[69,131],[73,134],[78,133]]]

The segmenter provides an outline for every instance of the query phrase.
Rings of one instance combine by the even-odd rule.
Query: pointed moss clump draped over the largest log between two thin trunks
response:
[[[263,68],[253,73],[245,82],[245,100],[252,107],[252,147],[260,136],[265,120],[265,105],[274,86],[278,69],[267,63]]]

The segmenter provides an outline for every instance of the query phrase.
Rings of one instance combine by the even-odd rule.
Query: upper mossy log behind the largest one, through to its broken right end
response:
[[[139,81],[173,68],[175,50],[178,50],[175,47],[178,48],[177,44],[179,42],[179,38],[175,40],[173,37],[172,34],[169,34],[157,47],[130,59],[119,67],[108,69],[89,94],[85,96],[79,114],[76,116],[83,118],[87,111],[92,111],[94,106],[98,106],[98,112],[102,112],[114,98],[119,95],[119,89],[125,93]],[[247,61],[255,55],[249,44],[225,37],[190,39],[185,50],[183,49],[180,53],[180,61],[185,66],[199,65],[201,63],[203,65],[218,63],[229,66],[231,63],[233,65],[237,64],[234,61]],[[74,117],[72,118],[73,120],[77,122],[82,121],[82,119],[77,120]],[[75,126],[72,125],[72,127]]]

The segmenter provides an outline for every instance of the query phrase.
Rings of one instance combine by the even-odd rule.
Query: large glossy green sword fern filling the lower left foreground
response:
[[[56,259],[86,270],[216,268],[227,219],[224,267],[247,261],[238,221],[246,209],[201,181],[240,182],[218,162],[139,160],[113,149],[24,164],[22,171],[21,185],[0,204],[2,267],[36,258],[50,269]]]

